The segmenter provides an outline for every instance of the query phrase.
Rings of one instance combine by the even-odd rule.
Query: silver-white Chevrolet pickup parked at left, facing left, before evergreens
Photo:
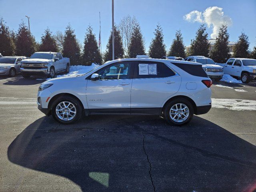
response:
[[[69,73],[70,60],[56,52],[35,52],[21,61],[21,74],[24,78],[32,75],[47,75],[54,78],[56,73]]]

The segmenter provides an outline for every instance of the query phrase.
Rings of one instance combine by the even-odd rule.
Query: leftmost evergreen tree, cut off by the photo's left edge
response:
[[[12,40],[12,34],[3,18],[0,18],[0,53],[4,56],[15,54],[15,44]]]

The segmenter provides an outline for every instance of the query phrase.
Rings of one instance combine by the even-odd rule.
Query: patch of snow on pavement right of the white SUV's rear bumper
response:
[[[212,98],[213,108],[226,108],[230,110],[256,110],[256,100],[242,99],[215,99]]]

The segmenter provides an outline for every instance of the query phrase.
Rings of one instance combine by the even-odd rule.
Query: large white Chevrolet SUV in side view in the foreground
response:
[[[129,58],[77,76],[54,78],[38,90],[38,109],[60,123],[85,114],[160,115],[172,125],[211,108],[212,81],[201,64]]]

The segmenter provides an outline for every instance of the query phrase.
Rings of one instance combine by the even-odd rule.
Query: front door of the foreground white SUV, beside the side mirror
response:
[[[99,80],[87,78],[86,99],[91,114],[130,114],[134,61],[116,62],[95,73]]]

